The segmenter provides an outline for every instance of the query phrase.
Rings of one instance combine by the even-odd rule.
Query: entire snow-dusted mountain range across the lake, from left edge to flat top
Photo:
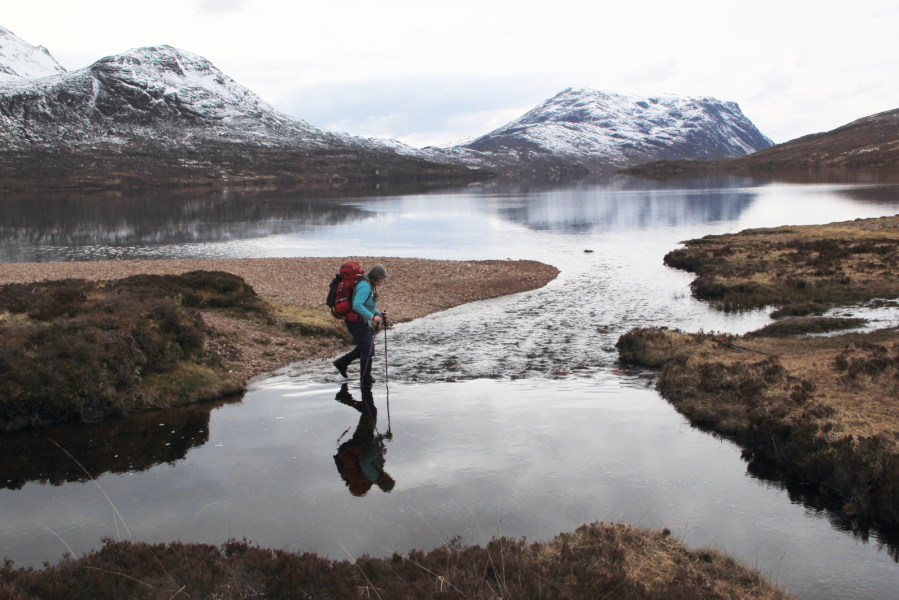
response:
[[[569,88],[487,135],[419,150],[314,127],[172,46],[135,48],[66,72],[46,51],[6,29],[0,34],[0,153],[7,157],[0,184],[43,181],[44,171],[104,186],[135,177],[250,181],[263,173],[288,181],[491,173],[563,179],[771,145],[733,102]],[[23,162],[35,152],[58,162]]]

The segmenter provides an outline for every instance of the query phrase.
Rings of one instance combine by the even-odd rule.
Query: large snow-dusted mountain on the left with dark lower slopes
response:
[[[2,57],[0,66],[12,69]],[[399,142],[313,127],[171,46],[0,81],[0,187],[444,177],[473,174]]]

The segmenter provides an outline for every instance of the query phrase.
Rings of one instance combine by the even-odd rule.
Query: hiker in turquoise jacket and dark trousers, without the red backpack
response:
[[[371,389],[375,380],[371,376],[372,360],[375,356],[374,332],[387,318],[387,313],[378,310],[378,284],[387,279],[387,269],[381,265],[375,265],[363,275],[356,283],[353,290],[353,312],[358,315],[360,321],[346,321],[347,329],[356,342],[352,351],[344,354],[334,361],[337,371],[347,376],[346,370],[350,363],[359,359],[359,383],[362,389]]]

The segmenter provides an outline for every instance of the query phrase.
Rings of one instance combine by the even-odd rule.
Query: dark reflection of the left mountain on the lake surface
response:
[[[345,202],[290,192],[13,196],[0,206],[0,262],[67,260],[67,249],[77,247],[253,239],[370,216]],[[116,256],[100,252],[93,258]]]

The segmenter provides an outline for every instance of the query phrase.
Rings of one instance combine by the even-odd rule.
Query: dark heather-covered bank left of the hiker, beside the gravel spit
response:
[[[198,309],[264,315],[227,273],[0,288],[0,429],[95,422],[242,391],[208,352]]]

